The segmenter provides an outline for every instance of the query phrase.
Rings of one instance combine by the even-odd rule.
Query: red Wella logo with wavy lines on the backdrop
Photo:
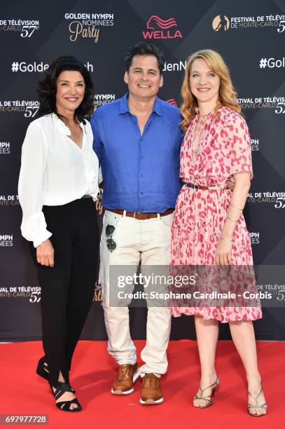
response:
[[[142,32],[144,39],[176,39],[179,37],[182,39],[182,34],[177,27],[177,22],[174,18],[169,20],[162,20],[158,15],[151,15],[148,22],[146,22],[146,28],[148,31]]]

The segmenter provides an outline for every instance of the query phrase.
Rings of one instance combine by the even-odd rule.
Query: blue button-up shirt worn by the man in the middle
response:
[[[106,209],[163,213],[180,190],[180,111],[156,97],[141,135],[128,94],[99,107],[90,120],[102,167]]]

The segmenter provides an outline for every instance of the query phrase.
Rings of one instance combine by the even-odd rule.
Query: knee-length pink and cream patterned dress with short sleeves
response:
[[[200,136],[193,165],[192,144],[198,114],[181,146],[180,177],[200,186],[221,186],[238,172],[251,172],[251,140],[244,118],[228,107],[211,113]],[[181,188],[172,224],[172,266],[214,266],[232,191]],[[232,238],[232,264],[253,266],[251,240],[243,215]],[[200,315],[221,322],[262,318],[260,306],[172,306],[172,315]]]

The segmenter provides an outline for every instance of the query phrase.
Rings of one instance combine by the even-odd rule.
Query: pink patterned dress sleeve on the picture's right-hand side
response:
[[[250,172],[252,179],[251,138],[244,118],[239,114],[232,114],[221,134],[225,143],[225,168],[228,177],[239,172]]]

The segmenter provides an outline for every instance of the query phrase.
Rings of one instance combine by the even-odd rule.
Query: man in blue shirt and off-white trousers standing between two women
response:
[[[112,305],[112,291],[118,292],[118,285],[110,281],[109,268],[128,266],[130,273],[136,273],[141,261],[141,273],[147,273],[147,266],[169,265],[170,227],[180,189],[182,135],[179,109],[157,96],[163,84],[164,63],[164,56],[153,45],[137,43],[130,48],[124,76],[129,92],[97,109],[91,119],[106,209],[99,280],[108,351],[119,365],[111,393],[132,393],[140,374],[141,404],[163,401],[160,376],[167,371],[171,315],[167,303],[164,307],[148,305],[146,346],[141,352],[145,364],[138,368],[130,337],[130,300],[125,306]],[[132,289],[133,285],[125,285],[123,292]]]

